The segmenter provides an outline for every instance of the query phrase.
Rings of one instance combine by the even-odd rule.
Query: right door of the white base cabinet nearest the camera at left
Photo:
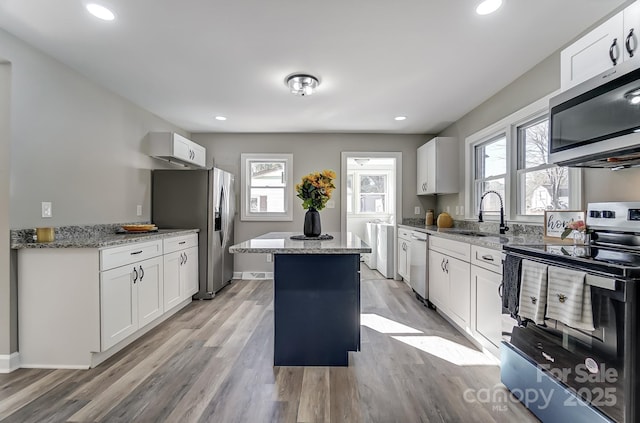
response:
[[[163,260],[156,257],[137,263],[138,327],[151,323],[163,312]]]

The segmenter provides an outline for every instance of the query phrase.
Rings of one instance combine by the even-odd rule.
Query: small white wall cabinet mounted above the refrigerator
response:
[[[183,166],[206,167],[206,148],[175,132],[150,132],[149,155]]]

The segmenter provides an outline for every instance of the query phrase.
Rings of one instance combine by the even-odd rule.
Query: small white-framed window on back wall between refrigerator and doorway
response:
[[[293,220],[291,154],[242,154],[242,220]]]

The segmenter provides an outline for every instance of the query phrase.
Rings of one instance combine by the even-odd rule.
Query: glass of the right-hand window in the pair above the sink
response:
[[[519,126],[517,134],[518,214],[568,209],[569,168],[548,163],[548,117]]]

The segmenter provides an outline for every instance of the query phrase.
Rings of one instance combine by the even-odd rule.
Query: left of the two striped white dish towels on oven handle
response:
[[[518,315],[522,319],[544,324],[547,304],[547,266],[531,260],[522,260],[520,270],[520,299]]]

